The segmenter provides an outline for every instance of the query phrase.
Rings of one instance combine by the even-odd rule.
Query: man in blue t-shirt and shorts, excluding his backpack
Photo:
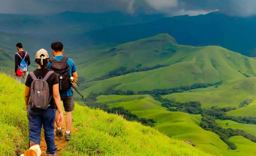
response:
[[[52,48],[52,54],[53,54],[53,59],[56,61],[60,61],[63,58],[63,44],[60,42],[53,42],[51,45]],[[76,65],[74,61],[70,58],[67,60],[68,66],[69,66],[69,74],[70,76],[74,77],[74,80],[77,80],[78,75],[76,71]],[[47,64],[48,69],[50,69],[52,62],[49,61]],[[74,81],[76,82],[76,81]],[[76,84],[74,83],[76,86]],[[65,140],[69,141],[70,140],[70,130],[71,130],[71,124],[72,124],[72,111],[75,109],[75,103],[74,103],[74,98],[73,98],[73,88],[71,87],[68,89],[67,92],[65,93],[60,93],[61,100],[63,102],[64,110],[66,112],[66,133],[65,133]],[[56,112],[56,117],[59,116],[59,112]],[[57,121],[57,119],[55,120]],[[56,122],[57,124],[57,122]],[[61,125],[57,124],[57,129],[56,129],[56,135],[58,137],[63,136],[63,131],[61,128]]]

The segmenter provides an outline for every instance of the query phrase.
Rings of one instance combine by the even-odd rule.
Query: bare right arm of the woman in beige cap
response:
[[[61,100],[60,100],[60,93],[59,93],[59,83],[52,86],[52,91],[53,91],[53,99],[54,99],[55,104],[58,108],[58,111],[60,112],[57,124],[62,124],[63,121],[64,121],[64,118],[63,118],[63,111],[62,111],[62,107],[61,107]]]

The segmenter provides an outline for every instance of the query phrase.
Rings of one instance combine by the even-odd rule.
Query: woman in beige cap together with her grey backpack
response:
[[[40,145],[40,135],[43,124],[44,138],[47,144],[47,156],[57,156],[57,148],[54,143],[56,106],[58,109],[58,116],[56,117],[57,124],[62,124],[64,120],[59,93],[59,79],[56,73],[47,69],[49,55],[46,50],[40,49],[36,53],[35,62],[38,68],[29,73],[25,83],[25,103],[28,116],[29,141]]]

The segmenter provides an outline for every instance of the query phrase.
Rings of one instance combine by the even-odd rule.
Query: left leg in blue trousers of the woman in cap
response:
[[[28,116],[28,131],[29,141],[33,141],[35,144],[40,145],[40,136],[42,129],[42,119],[40,113],[32,111],[30,105],[27,111]]]

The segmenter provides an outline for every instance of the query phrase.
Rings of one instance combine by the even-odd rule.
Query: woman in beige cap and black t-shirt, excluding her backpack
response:
[[[43,79],[44,76],[49,72],[47,69],[47,63],[49,61],[49,55],[46,50],[40,49],[36,52],[36,64],[38,68],[33,71],[37,79]],[[30,99],[30,87],[33,82],[32,73],[28,75],[27,81],[25,83],[25,103],[28,116],[28,131],[29,140],[33,141],[35,144],[40,145],[41,128],[44,126],[44,137],[47,144],[47,156],[57,156],[57,148],[54,143],[54,122],[55,122],[55,103],[60,112],[58,117],[58,122],[61,124],[63,122],[63,112],[61,108],[60,93],[59,93],[59,79],[56,73],[52,73],[50,77],[46,80],[49,86],[50,95],[53,94],[53,98],[50,100],[49,107],[47,110],[39,109],[34,110],[31,108],[29,103]]]

